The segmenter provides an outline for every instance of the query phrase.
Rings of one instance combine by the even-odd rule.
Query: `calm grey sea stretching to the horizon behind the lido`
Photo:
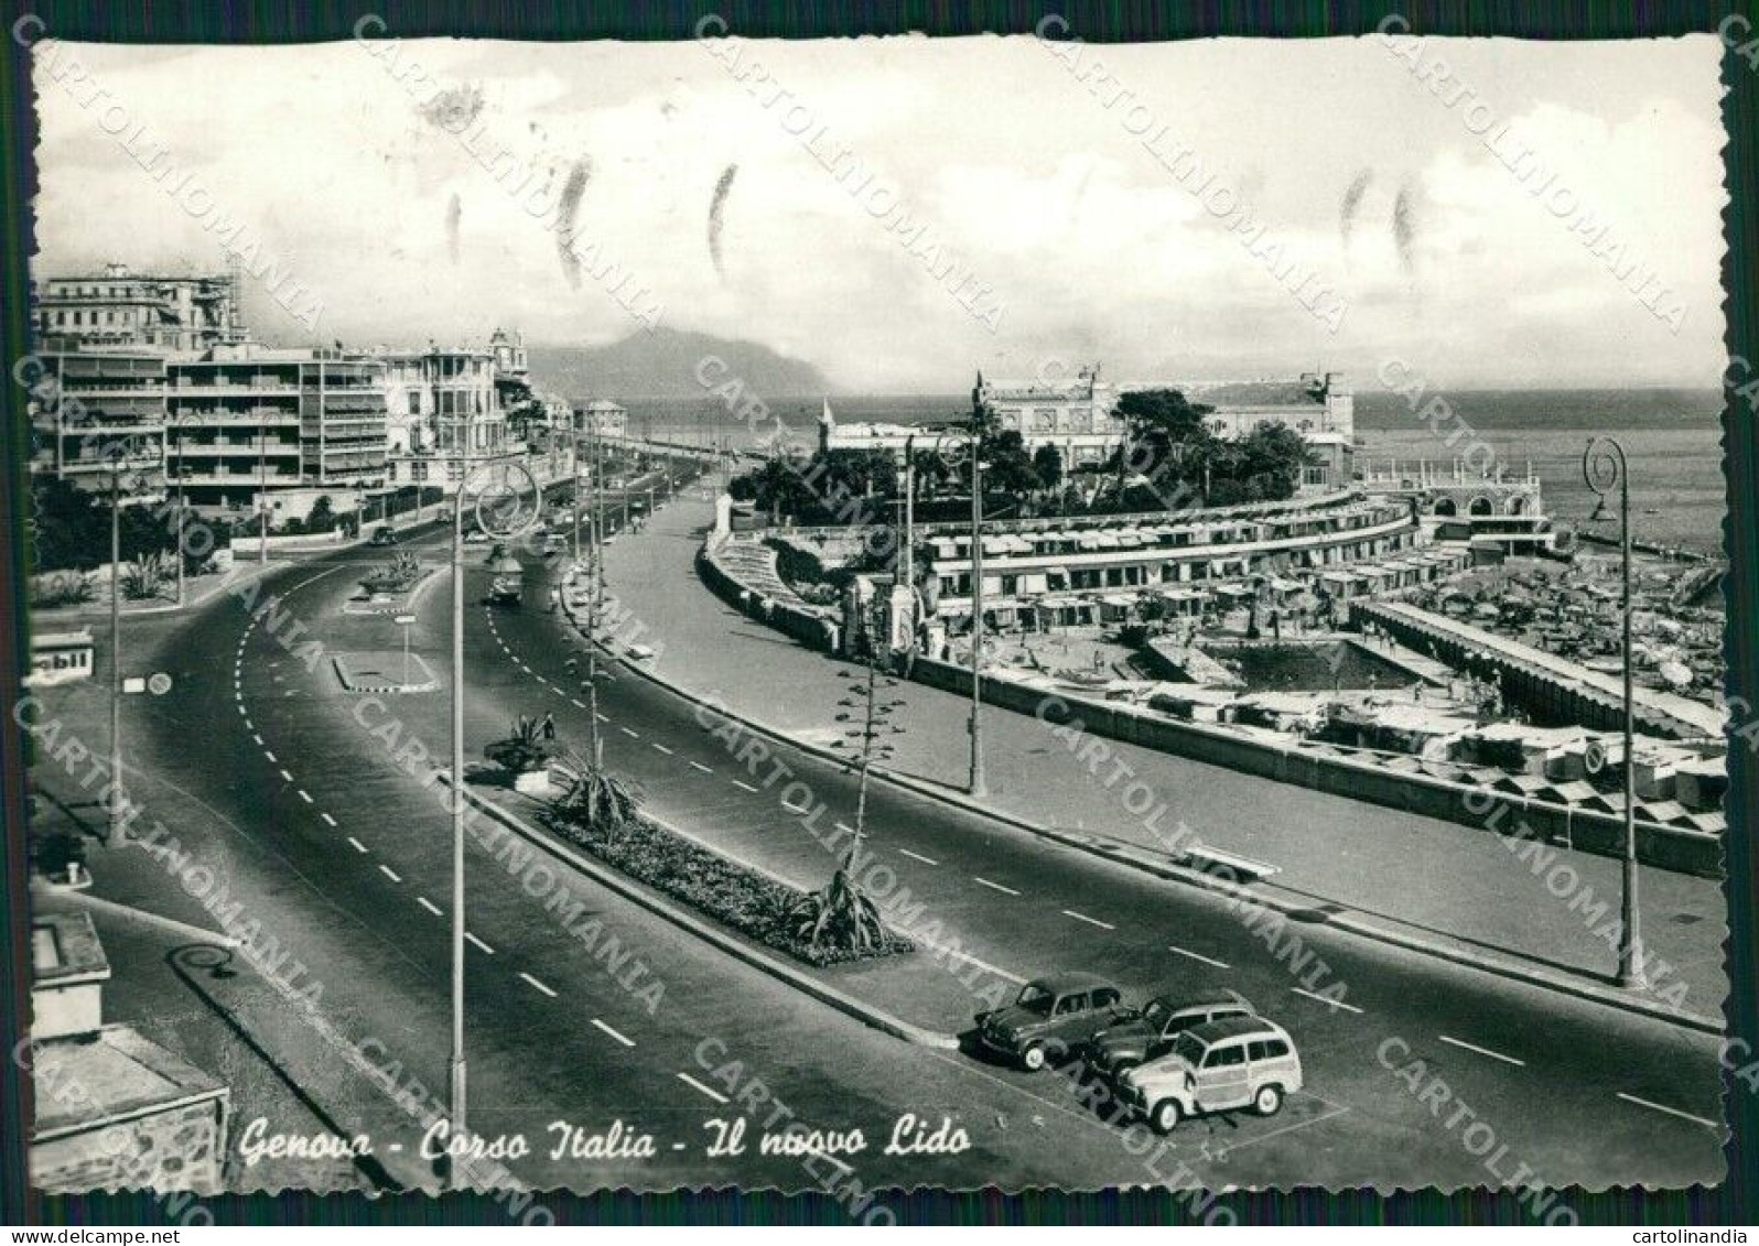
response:
[[[1594,494],[1581,455],[1595,436],[1617,438],[1631,469],[1631,531],[1638,541],[1720,554],[1727,513],[1722,471],[1722,394],[1717,390],[1449,390],[1455,420],[1430,431],[1404,397],[1390,390],[1356,394],[1356,466],[1411,467],[1427,459],[1446,467],[1472,441],[1486,443],[1509,473],[1532,464],[1546,511],[1558,525],[1617,536],[1611,522],[1590,524]],[[739,448],[769,446],[777,424],[786,439],[813,443],[821,395],[769,399],[772,420],[756,431],[714,399],[628,399],[631,431],[682,439],[716,439]],[[832,395],[841,422],[923,424],[962,418],[969,395]],[[1460,432],[1449,448],[1442,436]],[[1478,452],[1476,457],[1481,457]]]

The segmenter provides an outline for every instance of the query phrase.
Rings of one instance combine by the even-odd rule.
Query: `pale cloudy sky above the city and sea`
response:
[[[570,274],[556,232],[473,155],[507,151],[536,170],[528,202],[570,204],[577,241],[616,258],[624,304],[850,390],[948,392],[973,367],[1047,359],[1099,359],[1117,380],[1326,366],[1367,381],[1398,357],[1441,385],[1715,385],[1722,369],[1712,35],[1062,58],[1031,37],[376,51],[39,44],[37,272],[216,269],[209,211],[311,290],[292,301],[308,322],[322,304],[313,334],[255,283],[269,339],[639,330],[591,257]],[[69,53],[83,83],[51,72]],[[753,60],[767,79],[742,84]],[[1425,83],[1437,60],[1446,77]],[[466,120],[468,142],[447,128]],[[1504,127],[1544,195],[1486,149]],[[1205,204],[1145,149],[1163,128],[1159,151],[1193,149],[1228,199]],[[213,207],[155,183],[130,137]],[[837,151],[874,170],[865,195],[823,167]],[[1252,253],[1230,200],[1279,253]],[[927,227],[925,253],[887,228],[894,204]],[[969,308],[932,272],[953,257]],[[1289,290],[1307,272],[1332,323]]]

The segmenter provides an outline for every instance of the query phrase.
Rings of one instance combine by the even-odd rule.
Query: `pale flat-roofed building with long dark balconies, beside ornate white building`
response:
[[[169,471],[192,506],[357,510],[385,476],[385,366],[334,350],[220,346],[167,366]]]

